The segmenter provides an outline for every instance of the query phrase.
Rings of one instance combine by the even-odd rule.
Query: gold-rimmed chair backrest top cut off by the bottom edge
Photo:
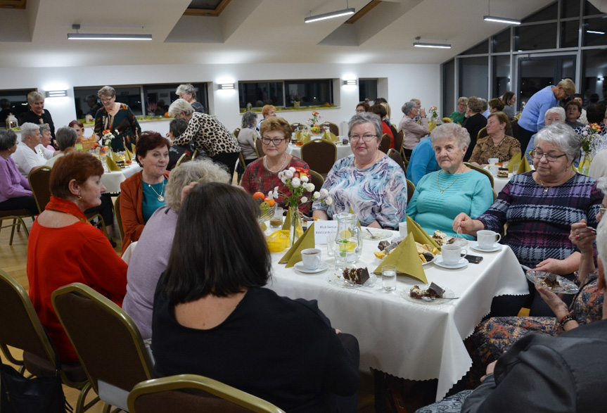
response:
[[[139,383],[129,393],[128,405],[131,413],[283,412],[254,395],[195,374],[179,374]]]

